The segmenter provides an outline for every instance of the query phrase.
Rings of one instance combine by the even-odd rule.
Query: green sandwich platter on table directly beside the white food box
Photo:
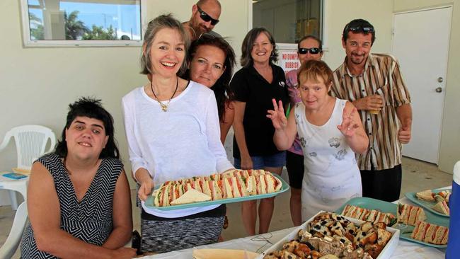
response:
[[[362,207],[365,209],[376,209],[384,213],[391,213],[396,217],[396,211],[398,209],[398,205],[391,203],[391,202],[384,202],[383,200],[376,200],[368,197],[356,197],[352,198],[351,200],[348,200],[345,202],[344,205],[342,205],[340,208],[338,208],[335,212],[342,214],[343,209],[345,209],[346,205],[355,205],[357,207]],[[437,224],[439,226],[447,226],[449,227],[449,219],[446,217],[439,217],[437,214],[434,214],[430,212],[429,210],[423,208],[425,211],[425,214],[427,216],[427,222],[432,223],[432,224]],[[425,243],[422,241],[415,240],[413,238],[410,238],[410,234],[412,234],[412,231],[414,230],[414,226],[408,226],[406,224],[394,224],[391,226],[392,228],[399,229],[401,231],[401,234],[399,238],[415,242],[415,243],[420,243],[424,246],[432,246],[435,248],[447,248],[447,245],[435,245],[432,243]]]

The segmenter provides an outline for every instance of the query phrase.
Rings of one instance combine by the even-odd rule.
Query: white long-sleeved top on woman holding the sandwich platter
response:
[[[167,104],[168,101],[163,102]],[[168,111],[147,96],[144,87],[122,98],[125,132],[132,173],[149,171],[154,185],[166,180],[222,173],[234,166],[220,142],[219,115],[214,92],[194,81],[173,98]],[[212,207],[160,211],[142,204],[158,217],[185,217]]]

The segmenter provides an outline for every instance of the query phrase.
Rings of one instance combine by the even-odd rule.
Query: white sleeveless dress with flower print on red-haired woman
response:
[[[352,197],[362,196],[360,169],[355,153],[337,129],[346,100],[336,98],[333,113],[321,126],[306,120],[304,103],[297,103],[295,120],[304,151],[302,220],[320,210],[333,212]]]

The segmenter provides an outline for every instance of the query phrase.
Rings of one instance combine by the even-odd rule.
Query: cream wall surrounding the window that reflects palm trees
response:
[[[147,21],[167,12],[187,21],[196,1],[146,2]],[[248,28],[248,1],[224,0],[222,8],[216,31],[229,37],[239,57]],[[60,138],[67,105],[79,96],[96,96],[115,119],[115,137],[130,172],[121,98],[146,82],[139,74],[140,47],[25,48],[19,1],[12,0],[0,1],[0,31],[0,141],[11,127],[27,124],[50,127]],[[0,153],[0,171],[15,166],[16,149],[11,142]],[[0,204],[6,200],[0,192]]]

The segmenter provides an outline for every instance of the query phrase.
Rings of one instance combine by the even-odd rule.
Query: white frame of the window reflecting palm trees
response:
[[[30,38],[30,21],[28,0],[21,1],[21,28],[24,47],[138,47],[142,46],[144,24],[147,17],[147,0],[140,0],[141,5],[141,40],[32,40]]]

